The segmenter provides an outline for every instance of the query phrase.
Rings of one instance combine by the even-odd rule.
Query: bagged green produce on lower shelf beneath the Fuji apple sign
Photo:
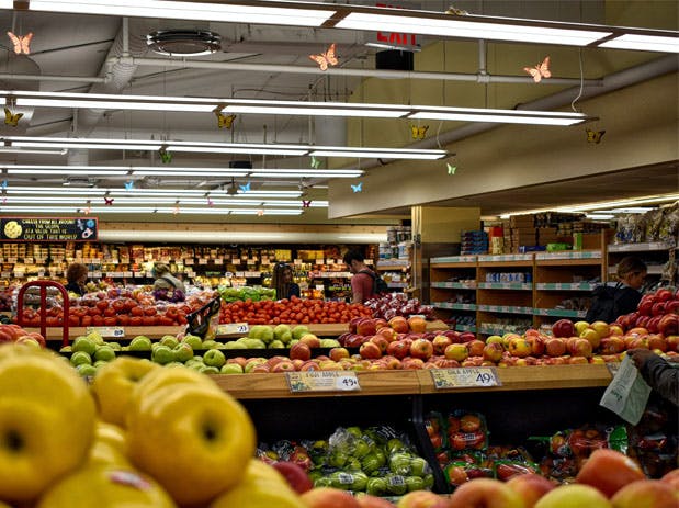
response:
[[[401,496],[433,486],[431,467],[407,436],[388,426],[338,428],[328,439],[260,444],[264,462],[292,462],[316,487]]]

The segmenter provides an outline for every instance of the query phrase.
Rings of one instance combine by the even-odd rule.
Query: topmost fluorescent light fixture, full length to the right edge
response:
[[[8,9],[13,3],[2,0]],[[676,32],[301,1],[30,0],[32,11],[359,30],[677,53]],[[630,37],[634,35],[635,37]],[[643,36],[644,38],[637,38]]]

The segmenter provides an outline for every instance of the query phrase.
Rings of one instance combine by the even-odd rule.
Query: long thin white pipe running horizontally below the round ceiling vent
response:
[[[163,59],[144,57],[117,56],[109,58],[110,65],[149,66],[149,67],[174,67],[186,69],[215,69],[215,70],[245,70],[249,72],[268,74],[297,74],[318,76],[353,76],[363,78],[381,79],[429,79],[437,81],[469,81],[482,83],[532,83],[533,79],[521,76],[490,76],[487,74],[460,74],[460,72],[422,72],[410,70],[383,70],[383,69],[349,69],[328,68],[320,70],[317,67],[296,67],[275,64],[245,64],[240,61],[200,61],[186,59]],[[542,81],[545,84],[580,84],[576,78],[551,78]],[[584,81],[588,87],[601,86],[600,79],[587,79]]]

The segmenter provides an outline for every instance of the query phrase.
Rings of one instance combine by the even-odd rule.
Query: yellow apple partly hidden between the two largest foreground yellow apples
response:
[[[99,369],[91,386],[99,417],[125,427],[125,415],[134,387],[155,369],[160,369],[160,365],[132,357],[118,357]]]

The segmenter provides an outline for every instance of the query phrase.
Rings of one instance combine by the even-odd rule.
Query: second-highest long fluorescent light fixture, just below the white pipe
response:
[[[582,113],[527,110],[485,110],[429,105],[360,104],[344,102],[298,102],[253,99],[211,99],[160,95],[113,95],[0,90],[0,98],[16,106],[94,108],[103,110],[143,110],[211,113],[219,109],[233,114],[283,114],[307,116],[416,118],[457,122],[497,122],[511,124],[574,125],[595,117]],[[177,148],[176,148],[177,149]]]

